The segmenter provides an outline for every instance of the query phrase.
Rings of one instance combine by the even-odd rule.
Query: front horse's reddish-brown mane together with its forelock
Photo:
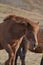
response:
[[[9,15],[3,21],[4,22],[7,21],[7,23],[9,23],[11,20],[19,24],[24,23],[26,26],[29,24],[29,26],[33,27],[33,29],[36,28],[39,24],[39,22],[36,23],[27,18],[16,16],[16,15]]]

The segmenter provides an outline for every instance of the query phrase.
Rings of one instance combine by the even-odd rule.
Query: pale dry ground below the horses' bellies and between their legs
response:
[[[25,64],[26,65],[40,65],[42,54],[35,54],[27,51]],[[0,65],[4,65],[5,61],[8,59],[8,54],[5,50],[0,51]],[[18,57],[18,65],[21,64],[20,58]]]

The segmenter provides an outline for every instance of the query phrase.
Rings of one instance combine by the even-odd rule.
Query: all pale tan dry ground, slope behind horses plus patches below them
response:
[[[15,7],[13,8],[7,5],[0,4],[0,23],[2,23],[3,19],[9,14],[23,16],[35,22],[39,21],[40,22],[39,26],[43,28],[43,16],[41,14],[35,12],[28,12],[20,8],[15,8]],[[36,54],[27,51],[25,63],[26,65],[40,65],[41,58],[42,58],[42,53]],[[7,52],[5,50],[0,50],[0,65],[4,65],[7,59],[8,59]],[[20,62],[20,58],[18,58],[18,65],[20,65],[19,62]]]

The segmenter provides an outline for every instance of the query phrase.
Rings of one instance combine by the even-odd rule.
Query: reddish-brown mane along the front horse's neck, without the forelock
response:
[[[23,23],[26,26],[33,28],[33,26],[32,26],[33,23],[31,23],[30,20],[28,20],[27,18],[24,18],[24,17],[16,16],[16,15],[9,15],[3,21],[4,21],[3,23],[7,23],[7,24],[11,23],[11,21],[12,22],[14,21],[15,23],[19,23],[19,24]]]

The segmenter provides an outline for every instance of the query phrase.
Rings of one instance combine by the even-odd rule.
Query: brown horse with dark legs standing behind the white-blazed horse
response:
[[[43,53],[43,29],[42,28],[40,28],[37,33],[37,39],[38,39],[37,48],[35,50],[33,50],[30,47],[29,51],[34,52],[34,53]],[[25,65],[25,56],[26,56],[26,52],[28,50],[28,43],[29,43],[29,41],[27,41],[26,38],[24,38],[22,40],[22,44],[20,45],[20,47],[17,51],[17,54],[16,54],[15,65],[17,65],[18,56],[20,56],[21,65]],[[43,57],[42,57],[42,60],[43,60]],[[41,61],[41,65],[42,64],[43,64],[43,61]]]

